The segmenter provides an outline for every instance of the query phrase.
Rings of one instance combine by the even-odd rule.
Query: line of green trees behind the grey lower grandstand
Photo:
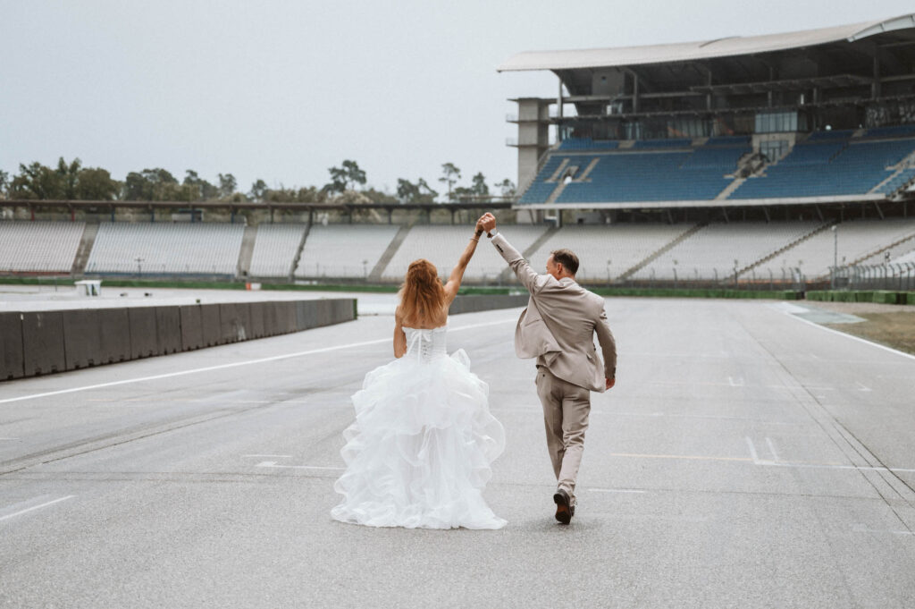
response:
[[[385,192],[366,186],[365,170],[350,159],[339,167],[328,169],[328,183],[323,186],[270,188],[263,179],[256,179],[251,189],[240,190],[231,173],[220,173],[210,182],[197,171],[188,169],[178,181],[167,169],[131,171],[124,180],[113,179],[107,169],[83,167],[75,158],[67,163],[59,158],[56,167],[41,163],[20,164],[19,172],[10,176],[0,169],[0,198],[50,201],[231,201],[231,202],[301,202],[301,203],[434,203],[439,192],[423,178],[397,179],[397,190]],[[511,179],[490,185],[482,172],[470,179],[469,186],[460,186],[461,171],[453,163],[442,165],[438,179],[446,189],[439,202],[467,201],[494,195],[515,195]]]

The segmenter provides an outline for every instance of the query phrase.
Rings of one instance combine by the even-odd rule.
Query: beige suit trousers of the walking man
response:
[[[557,488],[572,498],[574,506],[578,467],[591,413],[591,391],[558,378],[543,365],[537,366],[536,383],[537,396],[544,407],[546,448],[550,451]]]

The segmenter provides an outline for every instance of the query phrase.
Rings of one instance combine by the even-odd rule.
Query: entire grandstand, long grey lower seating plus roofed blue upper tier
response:
[[[245,223],[115,223],[116,207],[148,208],[155,219],[156,206],[187,204],[0,201],[33,219],[43,204],[66,204],[73,220],[85,205],[80,219],[89,219],[0,222],[0,273],[397,284],[418,257],[447,277],[468,226],[443,218],[493,208],[505,210],[504,233],[535,268],[569,247],[581,260],[578,279],[591,285],[823,286],[852,268],[886,266],[883,277],[893,277],[915,260],[915,15],[524,52],[500,71],[553,71],[560,85],[558,96],[514,100],[519,197],[511,211],[496,201],[210,201],[199,207],[232,222],[244,209]],[[112,222],[97,223],[100,207]],[[300,222],[274,224],[276,210]],[[328,210],[348,223],[327,223]],[[316,211],[324,222],[314,222]],[[260,222],[246,225],[257,214]],[[465,279],[514,282],[485,245]]]

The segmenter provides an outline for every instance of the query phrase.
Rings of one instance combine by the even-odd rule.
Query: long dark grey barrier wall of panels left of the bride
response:
[[[0,313],[0,382],[356,319],[355,299]]]

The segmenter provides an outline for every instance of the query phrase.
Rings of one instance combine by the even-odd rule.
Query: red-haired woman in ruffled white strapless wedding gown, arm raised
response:
[[[490,415],[489,386],[467,353],[446,353],[448,307],[483,229],[443,286],[425,259],[410,264],[394,314],[394,357],[365,375],[352,396],[356,420],[343,432],[343,500],[330,515],[370,527],[501,528],[481,492],[505,448]]]

